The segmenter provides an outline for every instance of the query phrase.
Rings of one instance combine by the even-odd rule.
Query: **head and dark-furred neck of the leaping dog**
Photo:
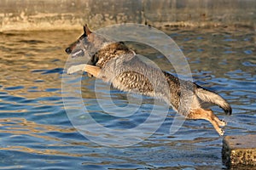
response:
[[[102,67],[110,59],[135,53],[125,46],[124,42],[113,42],[100,34],[90,31],[87,25],[84,26],[84,34],[73,42],[66,53],[71,57],[86,57],[87,65],[97,65]]]

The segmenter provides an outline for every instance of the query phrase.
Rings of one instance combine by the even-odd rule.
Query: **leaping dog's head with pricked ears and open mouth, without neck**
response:
[[[66,48],[65,51],[73,58],[86,56],[91,59],[91,57],[96,54],[97,50],[102,48],[104,42],[107,42],[106,38],[90,31],[88,26],[84,25],[84,34],[79,37],[76,42],[73,42],[68,48]]]

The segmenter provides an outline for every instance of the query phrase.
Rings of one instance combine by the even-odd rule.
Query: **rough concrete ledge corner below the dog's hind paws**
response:
[[[222,155],[228,167],[256,166],[256,134],[226,136],[223,141]]]

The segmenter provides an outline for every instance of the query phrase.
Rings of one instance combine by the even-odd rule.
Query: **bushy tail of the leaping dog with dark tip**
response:
[[[195,94],[204,102],[209,102],[215,105],[218,105],[221,107],[227,115],[232,114],[232,108],[230,104],[224,100],[222,97],[220,97],[218,94],[215,94],[205,88],[202,88],[198,86],[195,89]]]

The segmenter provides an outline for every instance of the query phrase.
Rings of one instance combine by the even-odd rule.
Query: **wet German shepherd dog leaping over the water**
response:
[[[194,82],[145,64],[124,42],[111,42],[84,26],[84,34],[66,48],[72,57],[89,57],[87,65],[75,65],[67,73],[86,71],[88,75],[110,82],[113,88],[163,99],[186,119],[204,119],[212,123],[219,135],[226,122],[219,120],[209,105],[218,105],[231,115],[230,104]]]

